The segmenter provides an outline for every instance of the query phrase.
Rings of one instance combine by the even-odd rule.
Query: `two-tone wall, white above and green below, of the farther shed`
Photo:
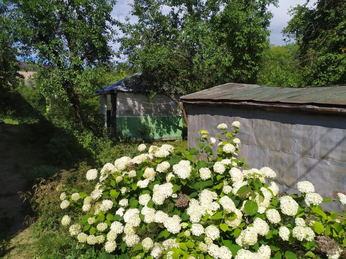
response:
[[[144,94],[117,93],[115,124],[121,138],[182,138],[182,112],[176,103],[159,94],[151,101],[155,104],[145,102],[148,97]],[[151,132],[140,135],[146,126]]]

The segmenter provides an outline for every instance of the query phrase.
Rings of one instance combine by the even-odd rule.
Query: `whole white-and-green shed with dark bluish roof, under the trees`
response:
[[[150,99],[143,86],[131,80],[138,75],[97,90],[104,126],[121,139],[181,139],[182,112],[177,104],[163,94]]]

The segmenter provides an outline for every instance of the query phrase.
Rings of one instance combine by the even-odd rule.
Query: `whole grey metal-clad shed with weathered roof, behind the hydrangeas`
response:
[[[188,107],[190,147],[200,129],[216,135],[218,124],[239,121],[239,157],[250,168],[271,167],[281,192],[298,193],[297,183],[306,180],[324,197],[345,193],[346,86],[229,83],[180,100]],[[327,204],[340,211],[338,204]]]

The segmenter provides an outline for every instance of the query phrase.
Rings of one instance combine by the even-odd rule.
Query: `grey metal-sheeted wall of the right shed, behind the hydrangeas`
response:
[[[297,183],[305,180],[324,197],[346,192],[344,115],[188,104],[188,116],[189,147],[197,146],[199,130],[216,135],[218,124],[239,121],[239,158],[250,168],[271,167],[281,192],[299,193]],[[337,202],[322,207],[341,211]]]

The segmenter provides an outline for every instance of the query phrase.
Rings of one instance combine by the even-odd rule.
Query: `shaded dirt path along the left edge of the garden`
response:
[[[37,156],[30,145],[22,143],[26,125],[4,126],[2,140],[0,137],[0,243],[28,227],[24,221],[29,204],[19,199],[18,192],[28,191],[23,168]]]

